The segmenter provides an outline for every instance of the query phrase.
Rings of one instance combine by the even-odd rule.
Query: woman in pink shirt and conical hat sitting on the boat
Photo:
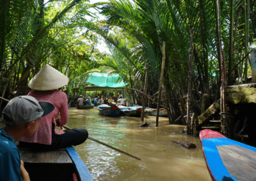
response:
[[[36,150],[50,150],[56,148],[79,145],[88,138],[86,129],[70,129],[59,131],[56,126],[63,126],[68,122],[68,99],[65,92],[56,89],[67,85],[68,77],[48,64],[31,79],[28,86],[34,89],[28,93],[38,101],[46,101],[55,106],[54,110],[42,117],[35,133],[19,140],[20,146]],[[58,117],[60,113],[60,117]],[[62,127],[61,127],[62,128]]]

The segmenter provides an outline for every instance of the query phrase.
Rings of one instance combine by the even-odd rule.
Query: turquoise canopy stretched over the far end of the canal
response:
[[[106,73],[97,72],[92,73],[86,82],[100,87],[124,87],[127,85],[118,74],[108,75]]]

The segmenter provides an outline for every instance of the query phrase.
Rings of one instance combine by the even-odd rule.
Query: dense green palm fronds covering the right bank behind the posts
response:
[[[171,105],[172,119],[175,119],[186,114],[185,103],[177,98],[187,94],[190,30],[194,29],[192,108],[200,114],[198,103],[202,94],[209,92],[213,100],[220,98],[220,39],[227,62],[228,84],[248,82],[248,59],[234,71],[231,69],[255,46],[255,6],[256,1],[221,1],[221,37],[218,37],[218,10],[214,0],[110,1],[101,8],[107,17],[102,31],[111,48],[117,51],[111,61],[115,60],[119,67],[129,64],[126,77],[132,73],[136,89],[143,89],[145,67],[150,62],[148,94],[151,95],[158,90],[163,41],[166,41],[164,88],[166,98],[171,100],[167,103]],[[115,70],[120,72],[118,68]]]

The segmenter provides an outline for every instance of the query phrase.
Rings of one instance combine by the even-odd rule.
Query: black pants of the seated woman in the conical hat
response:
[[[44,145],[41,143],[26,143],[19,141],[20,147],[31,148],[33,150],[53,150],[70,146],[76,146],[83,143],[88,138],[86,129],[69,129],[64,134],[54,133],[54,124],[52,124],[52,144]]]

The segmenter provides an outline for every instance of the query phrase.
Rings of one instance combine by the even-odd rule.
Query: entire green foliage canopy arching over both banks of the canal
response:
[[[186,114],[190,30],[193,34],[192,109],[200,114],[202,94],[220,97],[222,39],[228,84],[246,83],[250,61],[232,68],[255,46],[256,1],[216,0],[88,1],[0,0],[0,94],[27,94],[27,83],[45,64],[70,78],[68,95],[81,92],[88,73],[118,73],[129,88],[143,91],[150,62],[148,95],[156,96],[166,41],[164,103],[172,120]],[[99,20],[95,8],[106,18]],[[97,50],[99,36],[111,54]],[[13,94],[10,94],[12,93]],[[153,98],[154,98],[153,96]]]

